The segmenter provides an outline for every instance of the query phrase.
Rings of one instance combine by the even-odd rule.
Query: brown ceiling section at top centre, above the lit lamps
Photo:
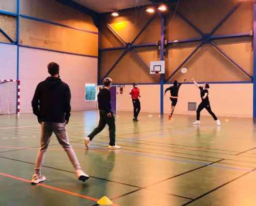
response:
[[[88,9],[96,11],[98,13],[105,13],[114,11],[117,9],[127,9],[135,7],[137,0],[72,0]],[[119,2],[119,5],[118,5]],[[139,6],[152,4],[148,0],[138,0]]]

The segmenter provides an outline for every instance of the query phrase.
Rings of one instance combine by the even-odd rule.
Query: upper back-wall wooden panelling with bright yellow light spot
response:
[[[135,19],[135,12],[137,12],[137,19]],[[101,48],[124,45],[106,26],[107,23],[128,43],[133,41],[153,15],[146,13],[144,9],[126,11],[116,18],[111,15],[105,15],[101,27]],[[160,18],[156,15],[134,44],[156,42],[160,39],[160,33]]]

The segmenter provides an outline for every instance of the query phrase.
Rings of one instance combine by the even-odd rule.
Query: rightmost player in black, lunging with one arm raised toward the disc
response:
[[[202,98],[202,102],[201,104],[198,106],[197,109],[197,121],[195,121],[193,124],[194,125],[199,125],[200,124],[200,112],[203,109],[206,109],[210,115],[213,116],[214,120],[216,121],[217,125],[220,126],[220,121],[219,119],[216,117],[216,115],[212,112],[212,109],[210,109],[210,102],[209,102],[209,97],[208,97],[208,90],[209,84],[208,83],[204,83],[203,87],[199,87],[198,83],[195,82],[194,78],[192,78],[192,81],[194,82],[194,84],[200,89],[201,91],[201,98]]]

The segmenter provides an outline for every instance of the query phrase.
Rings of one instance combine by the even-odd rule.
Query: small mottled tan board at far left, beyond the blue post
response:
[[[17,18],[16,16],[10,16],[0,13],[0,28],[2,28],[7,35],[16,41],[17,37]],[[11,43],[8,40],[9,43]]]

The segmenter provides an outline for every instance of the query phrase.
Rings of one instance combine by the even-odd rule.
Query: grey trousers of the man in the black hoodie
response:
[[[47,148],[50,143],[52,132],[56,135],[56,138],[59,144],[67,152],[67,155],[72,162],[76,170],[81,169],[78,162],[77,156],[74,153],[72,146],[69,144],[68,134],[66,130],[65,123],[50,123],[42,122],[41,124],[41,147],[38,150],[36,165],[35,165],[35,174],[40,174],[40,170],[43,164],[44,156],[46,155]]]

